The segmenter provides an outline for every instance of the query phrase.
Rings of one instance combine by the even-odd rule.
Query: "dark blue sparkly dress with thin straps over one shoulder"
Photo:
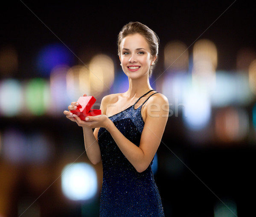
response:
[[[143,104],[137,109],[134,108],[135,104],[110,116],[109,119],[127,139],[139,146],[144,127],[141,116]],[[100,217],[163,217],[163,206],[151,169],[153,160],[145,171],[139,173],[126,159],[105,128],[99,129],[98,141],[103,166]]]

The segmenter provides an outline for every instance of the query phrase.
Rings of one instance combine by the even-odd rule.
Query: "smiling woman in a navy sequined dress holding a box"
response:
[[[166,108],[168,100],[149,84],[158,46],[159,39],[148,26],[125,25],[119,33],[118,55],[128,90],[105,96],[102,115],[88,116],[85,121],[72,113],[77,102],[64,111],[83,127],[90,161],[102,162],[101,217],[164,216],[151,168],[169,115],[169,110],[156,109]]]

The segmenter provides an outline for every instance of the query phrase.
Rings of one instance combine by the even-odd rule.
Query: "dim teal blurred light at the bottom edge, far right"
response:
[[[214,217],[237,217],[236,202],[232,199],[222,199],[214,206]]]

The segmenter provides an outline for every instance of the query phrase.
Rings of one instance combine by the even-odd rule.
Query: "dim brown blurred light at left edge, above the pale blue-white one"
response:
[[[18,55],[13,46],[4,46],[0,49],[0,73],[11,76],[18,69]]]

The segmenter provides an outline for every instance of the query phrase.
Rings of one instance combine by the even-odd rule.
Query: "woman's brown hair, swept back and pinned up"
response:
[[[123,26],[121,31],[119,32],[118,40],[117,40],[118,55],[120,56],[119,48],[122,40],[128,35],[134,35],[136,33],[142,35],[145,38],[145,40],[148,42],[151,57],[155,57],[155,56],[157,57],[156,60],[154,61],[154,65],[150,66],[150,69],[149,69],[149,76],[150,76],[158,60],[159,38],[152,29],[148,28],[148,26],[140,22],[130,22],[125,26]]]

